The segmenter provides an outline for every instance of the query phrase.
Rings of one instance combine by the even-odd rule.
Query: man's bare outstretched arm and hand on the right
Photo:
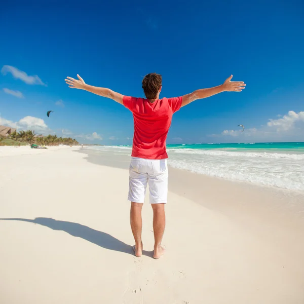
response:
[[[190,94],[182,96],[181,106],[185,106],[197,99],[210,97],[221,92],[241,92],[243,89],[245,89],[246,85],[243,81],[236,82],[231,81],[231,79],[232,75],[227,78],[225,82],[220,86],[209,89],[196,90]]]

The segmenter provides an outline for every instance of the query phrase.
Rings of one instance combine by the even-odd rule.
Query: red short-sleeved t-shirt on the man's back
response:
[[[148,99],[124,96],[123,104],[133,113],[134,136],[132,157],[150,160],[168,158],[166,138],[172,115],[181,106],[182,97]]]

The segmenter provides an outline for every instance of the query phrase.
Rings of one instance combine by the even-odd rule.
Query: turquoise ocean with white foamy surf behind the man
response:
[[[131,155],[131,146],[94,146]],[[304,142],[168,144],[168,164],[199,174],[304,192]]]

